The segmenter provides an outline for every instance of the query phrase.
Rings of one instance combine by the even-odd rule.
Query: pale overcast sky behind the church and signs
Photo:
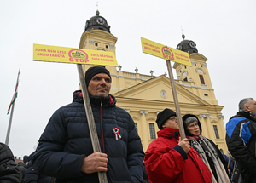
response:
[[[73,100],[79,89],[73,64],[32,60],[33,43],[78,48],[86,20],[96,14],[107,19],[118,37],[116,58],[122,71],[160,76],[166,60],[143,54],[140,37],[176,48],[182,39],[193,40],[207,57],[216,99],[224,106],[224,123],[236,114],[238,102],[255,94],[256,2],[206,0],[9,0],[0,11],[0,141],[5,142],[7,109],[20,86],[9,146],[17,157],[29,155],[49,117]],[[172,62],[172,66],[173,66]],[[173,72],[176,78],[176,73]]]

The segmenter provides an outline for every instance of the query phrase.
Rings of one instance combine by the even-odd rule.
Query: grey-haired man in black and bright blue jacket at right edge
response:
[[[246,98],[239,103],[239,112],[226,124],[226,142],[238,162],[243,182],[256,182],[256,101]]]

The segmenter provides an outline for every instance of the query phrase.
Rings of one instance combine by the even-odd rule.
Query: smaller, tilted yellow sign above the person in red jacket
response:
[[[141,37],[141,40],[143,53],[151,54],[165,60],[172,60],[186,66],[192,66],[188,53],[172,49],[171,47],[166,47],[163,44],[155,43],[143,37]]]

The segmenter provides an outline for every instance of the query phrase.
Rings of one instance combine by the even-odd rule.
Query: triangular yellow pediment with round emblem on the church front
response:
[[[175,83],[175,86],[179,103],[209,105],[205,100],[201,100],[178,83]],[[113,95],[117,98],[173,102],[171,83],[169,78],[164,75],[154,77]]]

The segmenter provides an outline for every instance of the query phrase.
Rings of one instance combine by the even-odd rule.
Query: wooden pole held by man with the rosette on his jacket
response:
[[[80,85],[81,85],[83,98],[84,98],[84,108],[85,108],[87,122],[90,130],[90,140],[91,140],[92,148],[94,152],[102,152],[99,139],[98,139],[98,134],[96,130],[93,113],[90,106],[90,98],[89,98],[87,86],[85,84],[84,71],[81,64],[78,64],[77,66],[79,71]],[[100,183],[108,182],[106,172],[98,172],[98,176],[99,176]]]

